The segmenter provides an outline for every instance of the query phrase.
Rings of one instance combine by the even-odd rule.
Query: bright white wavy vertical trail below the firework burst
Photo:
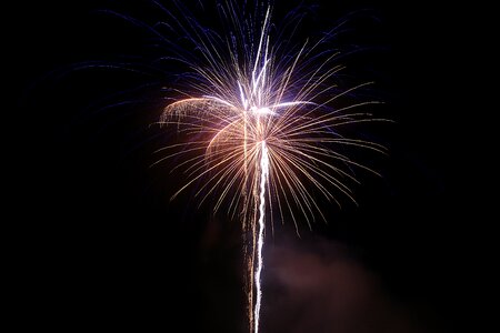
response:
[[[259,332],[259,313],[262,299],[262,289],[260,285],[260,273],[262,272],[262,245],[264,231],[264,214],[266,214],[266,180],[269,174],[269,155],[266,141],[261,142],[261,159],[260,159],[260,202],[259,202],[259,238],[257,241],[257,272],[256,272],[256,289],[257,301],[254,309],[256,333]]]

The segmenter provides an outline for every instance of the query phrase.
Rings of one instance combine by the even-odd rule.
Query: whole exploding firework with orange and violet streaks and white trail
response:
[[[157,163],[184,155],[176,168],[184,170],[187,181],[173,198],[203,180],[196,194],[200,204],[217,198],[214,211],[224,209],[241,221],[249,329],[257,333],[266,225],[276,216],[291,219],[296,228],[301,218],[309,225],[317,215],[326,220],[318,195],[337,204],[339,194],[353,201],[353,169],[374,172],[352,160],[348,148],[384,148],[342,131],[376,120],[366,110],[377,101],[339,103],[371,82],[340,89],[339,53],[324,48],[332,33],[292,44],[292,36],[283,39],[273,30],[269,3],[251,11],[236,1],[218,8],[226,34],[171,16],[177,27],[169,28],[184,34],[197,57],[178,52],[171,59],[190,72],[160,124],[176,127],[189,140],[161,149],[164,157]]]

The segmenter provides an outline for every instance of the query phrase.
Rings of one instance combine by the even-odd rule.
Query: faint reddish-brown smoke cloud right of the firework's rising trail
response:
[[[263,279],[264,332],[430,332],[339,243],[323,239],[269,243]]]

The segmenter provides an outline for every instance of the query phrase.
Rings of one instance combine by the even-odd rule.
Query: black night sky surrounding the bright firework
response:
[[[7,98],[13,97],[20,120],[4,125],[13,148],[7,163],[16,202],[11,253],[19,258],[12,307],[26,314],[21,326],[244,331],[238,224],[213,216],[210,203],[197,209],[190,192],[169,202],[179,175],[149,168],[154,149],[170,139],[150,127],[162,105],[158,87],[169,80],[96,68],[117,54],[133,63],[154,57],[140,29],[97,12],[161,19],[146,2],[23,2],[9,10],[16,23],[6,67],[14,93]],[[301,240],[287,223],[268,234],[262,332],[473,327],[486,285],[478,231],[487,202],[478,185],[486,171],[478,167],[483,111],[471,97],[473,24],[463,24],[474,12],[433,1],[318,2],[324,3],[309,7],[317,21],[307,22],[318,30],[358,13],[359,26],[347,37],[367,50],[347,60],[359,65],[350,73],[377,81],[376,93],[387,101],[380,112],[396,122],[379,129],[390,153],[379,165],[383,178],[367,176],[356,189],[359,206],[327,209],[329,225],[302,228]],[[92,68],[80,70],[86,65]],[[153,89],[131,90],[148,82]],[[339,278],[331,268],[354,275]],[[326,278],[309,290],[280,272]],[[313,295],[337,284],[349,290],[342,283],[360,276],[360,285],[370,282],[359,301],[368,305],[349,307],[337,299],[351,312],[332,320],[326,309],[337,307]],[[380,309],[377,319],[367,315]]]

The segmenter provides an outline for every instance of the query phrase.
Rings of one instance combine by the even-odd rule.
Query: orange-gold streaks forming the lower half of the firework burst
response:
[[[187,99],[172,103],[166,108],[161,122],[176,124],[189,135],[204,139],[184,143],[183,152],[196,150],[202,153],[182,162],[182,165],[189,164],[186,170],[189,181],[174,196],[207,175],[210,179],[198,193],[204,193],[203,198],[214,193],[220,195],[217,209],[229,193],[249,192],[250,184],[243,188],[249,178],[243,175],[254,173],[249,169],[253,168],[258,155],[256,147],[261,140],[266,140],[271,164],[272,201],[287,206],[287,211],[299,210],[307,221],[311,221],[313,215],[321,215],[321,210],[309,194],[311,185],[329,200],[337,201],[334,192],[353,200],[349,185],[346,184],[356,182],[349,167],[372,171],[351,160],[336,147],[384,151],[380,144],[340,135],[342,131],[339,128],[342,125],[373,121],[368,113],[349,113],[352,109],[373,103],[377,102],[358,103],[319,114],[318,104],[303,101],[277,103],[278,108],[254,107],[248,111],[238,110],[231,103],[213,98]],[[318,115],[314,117],[316,114]],[[259,127],[256,125],[256,118],[262,118]],[[166,148],[168,149],[170,148]],[[289,193],[291,198],[283,198],[282,193]],[[231,206],[238,209],[237,204]],[[292,214],[292,219],[298,221],[297,212]]]

